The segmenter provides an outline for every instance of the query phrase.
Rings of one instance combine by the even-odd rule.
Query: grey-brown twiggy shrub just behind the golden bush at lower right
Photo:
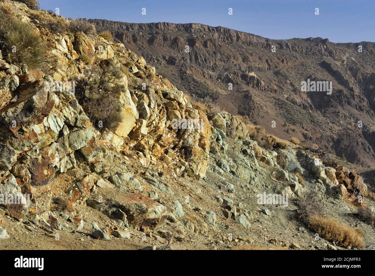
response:
[[[308,225],[311,217],[320,216],[323,211],[318,194],[315,191],[304,193],[297,201],[297,206],[297,215],[306,225]]]

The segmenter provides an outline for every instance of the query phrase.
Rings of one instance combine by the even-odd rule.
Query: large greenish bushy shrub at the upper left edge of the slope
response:
[[[56,56],[46,54],[46,42],[36,32],[31,24],[21,21],[1,20],[0,35],[6,44],[6,59],[10,63],[25,64],[30,70],[40,69],[48,72],[56,67]],[[15,48],[15,53],[12,49]]]

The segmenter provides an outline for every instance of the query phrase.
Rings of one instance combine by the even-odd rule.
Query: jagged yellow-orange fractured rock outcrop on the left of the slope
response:
[[[105,181],[121,189],[145,190],[129,174],[124,152],[134,152],[143,166],[158,161],[166,168],[179,166],[179,173],[205,176],[211,126],[181,91],[124,45],[82,32],[52,34],[23,4],[14,5],[22,7],[17,13],[51,42],[49,53],[58,57],[64,69],[47,75],[0,59],[1,183],[11,179],[12,187],[18,187],[12,188],[14,193],[44,193],[57,185],[71,202],[85,199]],[[44,20],[58,17],[69,23],[60,16],[39,13]],[[89,65],[81,60],[83,55],[89,57]],[[125,68],[119,81],[124,86],[119,99],[122,121],[115,131],[100,133],[75,97],[74,80],[86,77],[84,69],[107,64],[109,59]],[[65,86],[65,82],[71,83]]]

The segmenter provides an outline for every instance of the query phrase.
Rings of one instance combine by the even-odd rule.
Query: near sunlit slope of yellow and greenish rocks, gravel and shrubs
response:
[[[0,10],[1,249],[373,248],[373,191],[334,156],[261,147],[86,21]]]

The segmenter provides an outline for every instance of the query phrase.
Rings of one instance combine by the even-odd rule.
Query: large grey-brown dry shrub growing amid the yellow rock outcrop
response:
[[[120,66],[111,61],[103,68],[93,66],[85,74],[86,78],[76,78],[76,97],[99,131],[114,132],[123,119],[119,99],[125,87],[119,84],[123,77]]]

